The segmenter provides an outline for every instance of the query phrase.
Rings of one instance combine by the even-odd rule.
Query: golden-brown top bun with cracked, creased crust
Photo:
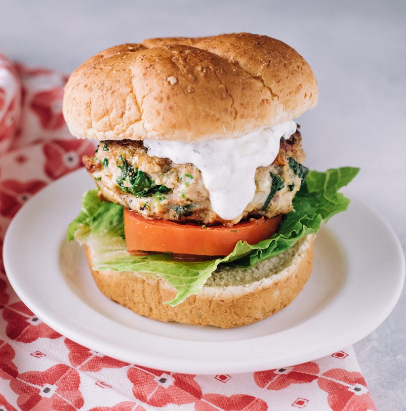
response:
[[[63,114],[80,138],[193,142],[283,123],[317,99],[312,69],[293,48],[239,33],[102,51],[71,75]]]

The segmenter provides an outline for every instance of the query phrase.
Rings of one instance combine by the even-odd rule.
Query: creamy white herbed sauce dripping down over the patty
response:
[[[296,123],[287,121],[238,138],[196,143],[144,140],[144,146],[149,156],[198,167],[213,211],[234,220],[254,198],[256,168],[272,164],[281,137],[288,139],[295,131]]]

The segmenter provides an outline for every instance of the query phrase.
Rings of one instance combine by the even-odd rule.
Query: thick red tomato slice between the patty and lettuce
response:
[[[147,219],[124,210],[124,233],[129,251],[158,251],[177,254],[228,255],[241,240],[256,244],[276,233],[282,215],[244,221],[231,227],[180,224]]]

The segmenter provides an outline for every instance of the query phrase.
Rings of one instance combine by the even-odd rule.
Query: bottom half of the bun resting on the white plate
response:
[[[93,279],[111,300],[137,314],[165,322],[232,328],[251,324],[290,304],[306,284],[313,267],[315,235],[252,268],[223,266],[202,291],[176,307],[163,304],[175,289],[158,275],[138,271],[95,271]],[[91,267],[94,252],[84,246]]]

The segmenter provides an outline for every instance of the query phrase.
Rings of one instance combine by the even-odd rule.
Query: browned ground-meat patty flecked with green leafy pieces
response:
[[[142,141],[102,142],[95,156],[85,156],[83,163],[100,189],[100,198],[144,217],[233,225],[250,217],[288,213],[301,184],[294,165],[303,160],[300,132],[282,138],[275,161],[256,168],[252,201],[232,220],[213,211],[202,173],[195,165],[150,156]]]

